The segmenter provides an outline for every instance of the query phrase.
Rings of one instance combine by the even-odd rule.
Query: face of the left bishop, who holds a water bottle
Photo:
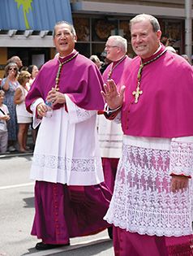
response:
[[[68,24],[58,24],[55,27],[54,45],[60,56],[71,54],[75,48],[76,38]]]

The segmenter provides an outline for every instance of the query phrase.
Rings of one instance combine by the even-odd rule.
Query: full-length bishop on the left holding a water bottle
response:
[[[104,108],[97,66],[75,49],[75,30],[55,26],[59,56],[41,67],[26,98],[33,124],[41,122],[32,160],[36,180],[36,249],[68,245],[70,238],[99,232],[111,193],[106,188],[97,143],[97,110]],[[47,103],[48,102],[48,103]],[[53,102],[48,115],[47,103]]]

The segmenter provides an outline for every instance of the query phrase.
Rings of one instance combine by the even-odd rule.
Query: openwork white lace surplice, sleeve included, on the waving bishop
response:
[[[170,191],[171,173],[191,176],[192,137],[123,139],[114,195],[105,219],[130,232],[157,236],[192,233],[192,181]]]

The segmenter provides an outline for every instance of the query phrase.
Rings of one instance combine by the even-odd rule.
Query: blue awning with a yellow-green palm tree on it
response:
[[[70,0],[1,0],[0,30],[52,31],[60,20],[72,23]]]

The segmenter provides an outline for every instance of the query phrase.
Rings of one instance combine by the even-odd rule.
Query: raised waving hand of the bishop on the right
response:
[[[111,110],[122,106],[123,96],[125,92],[125,85],[118,90],[117,85],[115,84],[113,79],[107,80],[104,85],[104,91],[101,91],[105,102],[109,106]]]

